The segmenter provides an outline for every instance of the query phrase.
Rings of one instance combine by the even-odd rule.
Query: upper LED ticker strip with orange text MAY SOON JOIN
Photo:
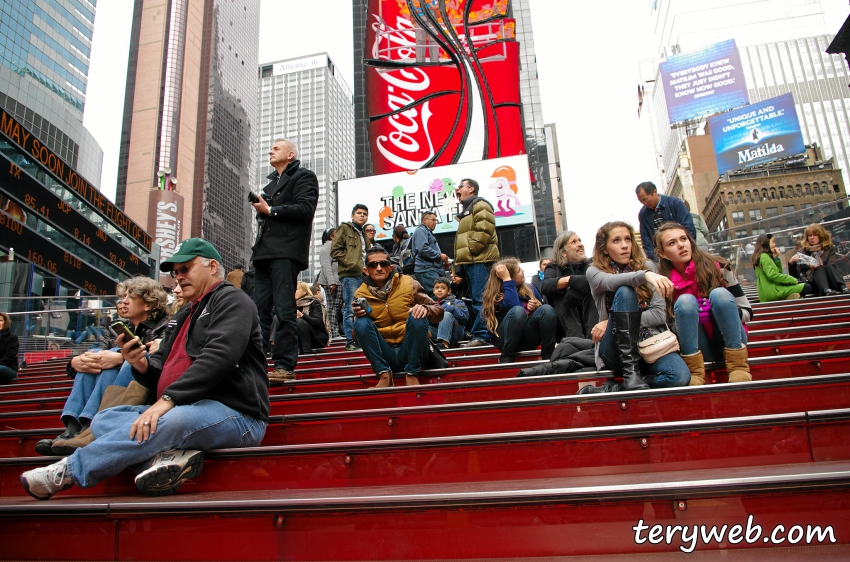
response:
[[[130,238],[147,250],[151,249],[151,236],[142,227],[133,222],[121,209],[116,207],[52,150],[42,144],[35,135],[18,123],[3,108],[0,108],[0,134],[38,160],[60,182],[80,195],[112,224],[127,233]]]

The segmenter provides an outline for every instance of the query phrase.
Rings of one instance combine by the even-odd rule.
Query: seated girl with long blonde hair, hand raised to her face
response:
[[[499,363],[513,363],[518,352],[537,346],[544,360],[552,355],[558,315],[542,299],[537,289],[525,282],[518,259],[504,258],[490,269],[481,314],[494,335],[494,345],[502,352]]]

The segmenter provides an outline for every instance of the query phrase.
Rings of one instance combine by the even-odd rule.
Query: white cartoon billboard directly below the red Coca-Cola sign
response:
[[[464,178],[478,182],[478,195],[493,206],[496,228],[534,222],[528,157],[512,156],[342,180],[337,186],[338,223],[351,220],[351,209],[362,203],[369,208],[378,241],[392,239],[399,224],[412,232],[425,211],[437,214],[434,234],[455,232],[454,218],[461,209],[455,188]]]

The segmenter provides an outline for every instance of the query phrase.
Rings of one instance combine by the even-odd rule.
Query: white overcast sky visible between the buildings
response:
[[[822,2],[838,31],[847,0]],[[543,115],[558,130],[568,227],[591,244],[607,221],[637,223],[634,187],[658,176],[637,118],[637,62],[651,55],[650,2],[529,3]],[[113,199],[132,9],[132,0],[98,3],[86,100],[85,125],[104,151],[101,190]],[[260,63],[327,51],[353,89],[351,21],[350,0],[262,0]]]

